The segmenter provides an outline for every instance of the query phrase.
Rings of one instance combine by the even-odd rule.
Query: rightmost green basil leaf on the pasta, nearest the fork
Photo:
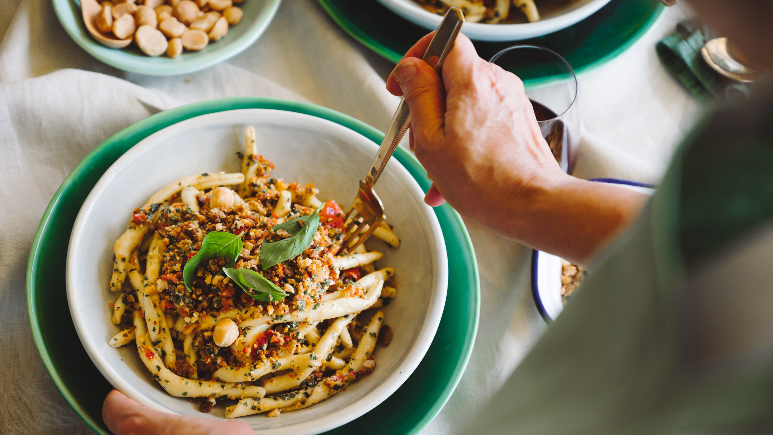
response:
[[[284,260],[290,260],[312,244],[314,235],[319,227],[319,210],[324,206],[325,204],[323,203],[322,206],[319,206],[315,212],[308,216],[297,217],[271,228],[274,231],[284,229],[290,233],[290,236],[276,242],[263,243],[261,246],[261,267],[263,267],[263,270],[275,266]],[[301,226],[298,223],[299,220],[302,220],[305,225]]]

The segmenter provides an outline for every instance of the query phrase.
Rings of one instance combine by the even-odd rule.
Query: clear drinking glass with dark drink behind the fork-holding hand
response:
[[[572,67],[553,50],[526,44],[502,49],[489,62],[523,81],[543,138],[561,170],[571,174],[580,144],[580,94]]]

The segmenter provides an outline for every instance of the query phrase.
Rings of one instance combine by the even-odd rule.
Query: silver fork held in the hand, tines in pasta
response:
[[[441,68],[443,67],[445,57],[448,56],[448,52],[453,48],[456,36],[458,36],[461,25],[464,22],[465,15],[461,13],[459,8],[448,8],[448,12],[445,13],[443,21],[440,23],[438,30],[435,31],[429,46],[427,46],[427,51],[422,59],[430,65],[434,65],[434,70],[438,73],[438,76],[441,75]],[[349,211],[346,212],[346,217],[344,218],[346,223],[344,234],[346,234],[346,237],[341,243],[343,250],[355,250],[357,246],[365,242],[373,234],[373,231],[376,230],[376,227],[379,226],[383,219],[386,219],[383,204],[373,190],[373,185],[378,181],[381,172],[386,167],[386,162],[392,157],[397,144],[403,138],[409,125],[410,112],[408,111],[405,97],[403,97],[397,106],[397,112],[392,117],[389,128],[386,130],[383,141],[381,141],[376,158],[373,159],[373,164],[370,165],[368,174],[364,180],[359,180],[357,197],[352,202],[352,206],[349,207]]]

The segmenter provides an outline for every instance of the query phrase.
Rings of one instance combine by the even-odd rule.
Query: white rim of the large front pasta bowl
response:
[[[148,406],[152,409],[164,413],[177,414],[175,411],[169,410],[164,406],[158,406],[156,403],[148,400],[145,396],[139,394],[138,391],[133,386],[131,386],[131,383],[124,379],[124,376],[119,375],[117,370],[113,369],[110,365],[107,364],[102,355],[97,352],[94,344],[87,339],[88,335],[85,333],[87,326],[83,323],[83,319],[77,312],[77,299],[74,296],[75,292],[70,291],[70,289],[77,287],[75,286],[76,278],[73,276],[73,270],[70,268],[70,253],[75,252],[75,250],[78,248],[82,233],[84,231],[83,222],[86,220],[86,216],[89,214],[90,209],[94,206],[94,202],[97,200],[97,197],[101,192],[104,191],[104,189],[107,188],[114,175],[120,172],[124,166],[128,165],[130,161],[133,161],[143,152],[148,150],[148,148],[152,148],[152,146],[154,146],[156,143],[172,136],[174,131],[173,127],[185,127],[187,124],[192,124],[192,126],[195,127],[197,123],[199,123],[199,121],[203,118],[222,116],[222,114],[235,112],[254,112],[261,114],[263,117],[267,116],[267,114],[277,114],[281,117],[287,116],[308,118],[310,121],[313,120],[322,122],[323,124],[328,124],[335,130],[347,131],[348,134],[359,136],[362,138],[363,144],[369,144],[369,147],[372,146],[374,153],[378,148],[378,146],[374,144],[373,141],[370,141],[362,134],[359,134],[356,131],[352,131],[348,127],[345,127],[341,124],[337,124],[333,121],[329,121],[321,117],[315,117],[309,114],[301,114],[298,112],[280,109],[235,109],[202,114],[197,117],[191,117],[164,127],[162,130],[156,131],[155,133],[149,135],[147,138],[139,141],[132,148],[126,151],[124,155],[121,155],[121,157],[118,158],[110,166],[110,168],[107,168],[107,171],[104,172],[104,174],[100,177],[97,184],[94,185],[94,188],[91,189],[91,192],[83,202],[75,223],[73,224],[73,231],[70,234],[70,243],[67,250],[66,260],[66,288],[70,315],[73,318],[73,324],[75,325],[78,338],[80,338],[80,342],[83,345],[83,348],[86,349],[89,358],[92,362],[94,362],[94,365],[100,371],[102,376],[104,376],[104,378],[107,379],[107,381],[110,382],[114,388],[120,390],[121,393],[124,393],[131,399],[135,399],[141,405]],[[410,172],[407,171],[407,168],[405,168],[400,163],[400,161],[397,161],[397,159],[393,160],[397,164],[400,172],[403,172],[404,176],[407,176],[407,179],[410,180],[409,184],[415,187],[415,189],[418,189],[419,192],[422,192],[423,195],[421,186],[419,186],[415,178],[410,175]],[[421,363],[421,360],[424,359],[424,355],[429,350],[432,340],[434,339],[434,335],[438,330],[438,326],[440,325],[441,317],[443,314],[446,291],[448,288],[448,257],[445,249],[442,229],[437,216],[431,209],[421,209],[421,212],[424,214],[424,217],[428,220],[431,226],[431,230],[428,231],[428,234],[430,235],[431,241],[434,242],[434,246],[431,247],[434,247],[434,251],[438,260],[438,285],[436,291],[433,292],[430,303],[428,304],[427,318],[424,321],[424,325],[421,327],[420,335],[417,337],[413,348],[410,349],[410,352],[406,358],[380,385],[376,386],[372,392],[364,396],[363,399],[361,399],[358,403],[352,403],[349,406],[335,410],[334,412],[327,414],[325,417],[318,418],[316,420],[310,420],[306,423],[288,425],[278,429],[263,430],[262,433],[284,433],[288,430],[291,430],[294,435],[311,435],[314,433],[326,432],[328,430],[332,430],[336,427],[340,427],[346,423],[349,423],[350,421],[355,420],[359,416],[367,413],[369,410],[372,410],[374,407],[378,406],[389,396],[391,396],[398,388],[400,388],[400,386],[403,385],[403,383],[417,368],[419,363]],[[106,321],[108,320],[107,316],[105,319]],[[363,403],[365,404],[363,405]],[[198,413],[186,415],[215,418],[209,414],[203,413],[200,415]]]

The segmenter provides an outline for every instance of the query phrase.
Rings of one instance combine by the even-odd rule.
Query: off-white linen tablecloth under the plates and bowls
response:
[[[700,113],[653,49],[685,13],[670,10],[632,49],[580,76],[577,176],[659,180]],[[261,39],[239,56],[172,77],[124,73],[91,58],[66,35],[48,0],[0,0],[0,433],[90,433],[39,361],[24,286],[39,219],[89,151],[160,110],[241,95],[309,101],[384,130],[397,106],[384,89],[392,67],[314,0],[283,2]],[[530,250],[466,223],[480,260],[478,338],[455,394],[426,434],[450,433],[484,406],[546,328],[530,292]]]

